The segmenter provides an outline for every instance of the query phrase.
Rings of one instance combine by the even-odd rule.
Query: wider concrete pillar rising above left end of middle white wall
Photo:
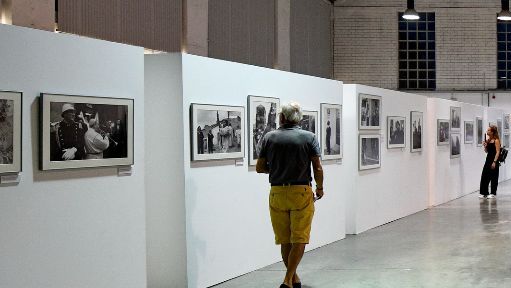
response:
[[[208,0],[184,0],[183,51],[208,56]]]

